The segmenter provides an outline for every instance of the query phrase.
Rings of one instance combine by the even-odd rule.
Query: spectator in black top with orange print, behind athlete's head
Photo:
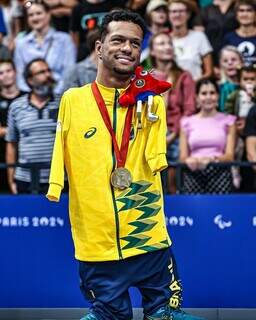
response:
[[[117,7],[124,7],[125,0],[83,0],[71,15],[71,34],[78,47],[78,61],[89,54],[85,39],[88,30],[100,26],[105,14]]]

